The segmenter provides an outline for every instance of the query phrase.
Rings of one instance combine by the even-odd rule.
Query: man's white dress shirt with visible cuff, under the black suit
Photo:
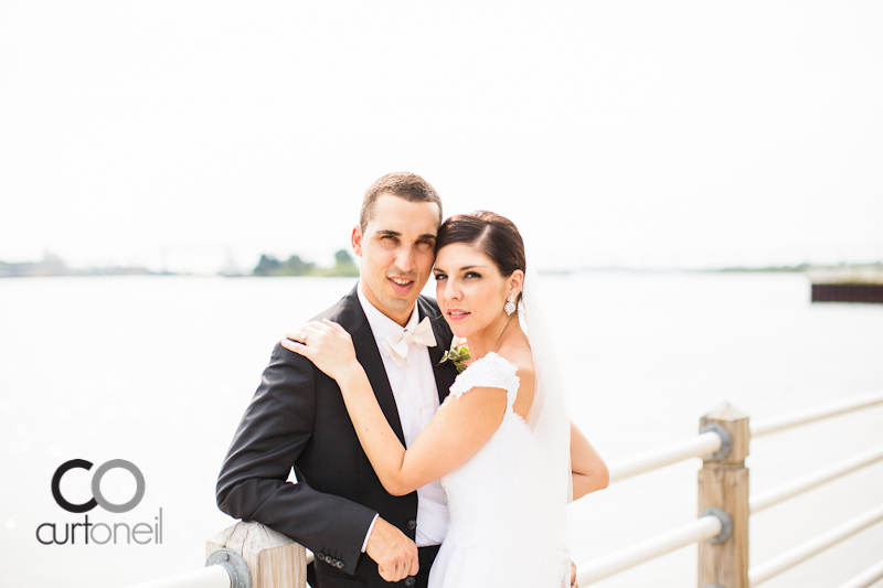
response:
[[[390,379],[390,386],[393,389],[395,406],[398,409],[398,419],[405,434],[405,446],[411,447],[421,430],[428,425],[438,410],[438,386],[433,373],[433,363],[427,348],[409,345],[407,357],[400,366],[390,355],[390,352],[384,349],[383,342],[390,335],[401,334],[417,327],[419,323],[417,306],[414,306],[414,311],[407,324],[402,327],[377,310],[365,298],[361,281],[359,282],[359,302],[361,302],[368,318],[368,324],[374,333],[374,340],[377,342],[377,349],[383,360],[383,367],[386,370],[386,377]],[[443,341],[437,342],[437,344],[444,343]],[[374,517],[374,521],[376,521],[376,517]],[[447,527],[448,503],[442,484],[436,480],[418,488],[415,539],[417,547],[440,545],[447,533]],[[374,523],[371,523],[362,547],[363,552],[364,547],[368,546],[368,538],[371,536],[373,528]]]

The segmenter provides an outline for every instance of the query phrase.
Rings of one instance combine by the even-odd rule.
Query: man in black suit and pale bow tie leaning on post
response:
[[[365,193],[352,247],[361,279],[313,320],[352,335],[381,408],[405,447],[432,419],[457,370],[451,331],[419,296],[435,260],[442,201],[423,178],[391,173]],[[286,482],[294,467],[297,483]],[[447,528],[433,482],[389,494],[371,468],[337,383],[277,344],[217,479],[217,505],[311,549],[315,588],[427,585]]]

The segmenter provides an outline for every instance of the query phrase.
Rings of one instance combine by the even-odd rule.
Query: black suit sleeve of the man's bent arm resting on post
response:
[[[313,553],[338,554],[341,569],[352,574],[376,512],[300,478],[286,482],[312,434],[316,394],[312,363],[277,343],[217,478],[217,506]]]

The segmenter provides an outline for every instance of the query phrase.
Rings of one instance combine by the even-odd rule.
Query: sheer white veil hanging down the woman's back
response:
[[[557,577],[564,574],[563,584],[566,587],[570,586],[567,548],[572,534],[567,504],[573,500],[571,418],[554,341],[549,331],[550,309],[546,304],[540,276],[529,264],[519,319],[533,355],[535,388],[526,420],[540,450],[540,459],[533,477],[535,503],[525,505],[525,514],[533,520],[532,532],[543,537],[536,545],[538,557],[542,558],[544,566],[554,566]],[[562,566],[564,569],[561,569]]]

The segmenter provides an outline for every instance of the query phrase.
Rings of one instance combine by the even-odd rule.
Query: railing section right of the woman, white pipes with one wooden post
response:
[[[883,447],[874,448],[797,480],[748,498],[748,471],[744,460],[751,439],[883,405],[883,392],[781,417],[758,419],[748,427],[747,415],[722,405],[702,417],[700,435],[646,453],[610,463],[610,481],[618,482],[691,458],[703,458],[699,471],[698,520],[619,552],[578,566],[581,586],[594,584],[628,568],[693,543],[699,544],[698,586],[748,588],[790,569],[801,562],[883,521],[883,504],[760,565],[748,567],[748,515],[883,460]],[[881,489],[883,494],[883,488]],[[883,559],[883,556],[881,557]],[[883,578],[883,560],[839,588],[862,588]]]

